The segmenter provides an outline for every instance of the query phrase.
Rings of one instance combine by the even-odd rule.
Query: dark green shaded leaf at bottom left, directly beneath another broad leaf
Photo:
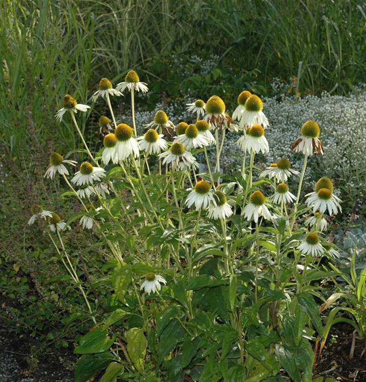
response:
[[[77,362],[74,374],[75,382],[86,382],[99,370],[105,369],[111,360],[115,360],[115,357],[108,351],[99,354],[84,354]]]

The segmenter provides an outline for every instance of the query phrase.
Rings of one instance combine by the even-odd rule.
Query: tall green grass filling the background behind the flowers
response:
[[[159,78],[154,62],[169,54],[217,54],[222,68],[251,73],[261,93],[298,72],[301,93],[347,94],[365,80],[366,5],[356,1],[3,0],[0,22],[0,132],[13,156],[20,146],[32,152],[30,124],[45,146],[77,146],[54,119],[64,94],[88,103],[101,77],[117,83],[131,68]]]

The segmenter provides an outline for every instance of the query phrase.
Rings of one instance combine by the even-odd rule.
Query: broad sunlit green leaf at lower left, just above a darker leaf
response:
[[[75,354],[91,354],[101,353],[108,350],[113,342],[114,337],[108,336],[108,331],[103,330],[102,326],[93,329],[87,333],[81,340],[80,345],[74,349]]]

